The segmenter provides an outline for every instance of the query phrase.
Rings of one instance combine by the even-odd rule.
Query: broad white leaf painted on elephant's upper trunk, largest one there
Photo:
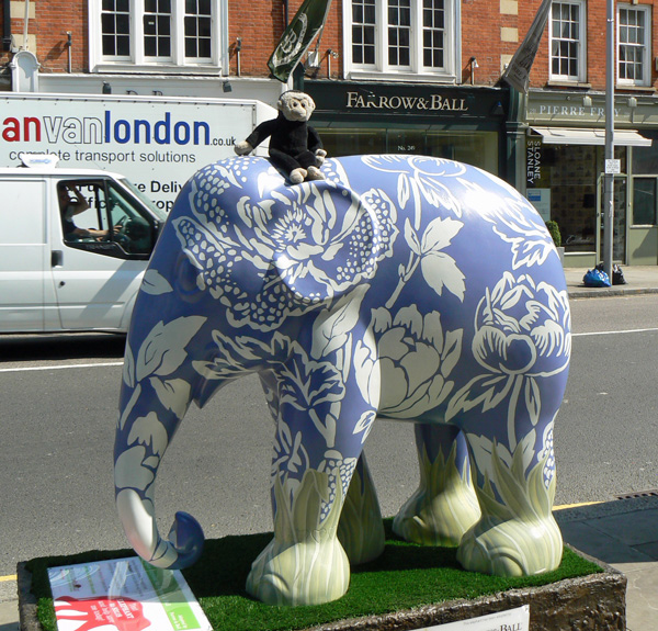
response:
[[[175,371],[188,357],[185,346],[207,318],[183,316],[168,324],[160,320],[148,334],[137,356],[136,378],[164,376]]]

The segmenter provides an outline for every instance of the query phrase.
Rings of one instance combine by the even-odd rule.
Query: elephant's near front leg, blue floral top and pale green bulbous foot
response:
[[[338,522],[363,447],[354,430],[365,410],[347,409],[348,402],[345,395],[336,416],[331,404],[308,410],[279,406],[274,538],[247,578],[247,591],[264,602],[320,605],[349,587],[350,564],[338,540]],[[345,421],[351,418],[355,421]]]

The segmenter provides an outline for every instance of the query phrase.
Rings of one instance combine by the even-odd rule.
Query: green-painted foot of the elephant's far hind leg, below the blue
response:
[[[453,446],[447,462],[442,453],[430,462],[423,451],[420,466],[420,486],[400,508],[393,530],[398,537],[421,545],[455,548],[480,517],[467,463],[460,473]]]

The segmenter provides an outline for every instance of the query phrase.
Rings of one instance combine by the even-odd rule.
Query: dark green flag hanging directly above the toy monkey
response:
[[[305,0],[268,61],[272,75],[285,83],[299,59],[325,26],[331,0]]]

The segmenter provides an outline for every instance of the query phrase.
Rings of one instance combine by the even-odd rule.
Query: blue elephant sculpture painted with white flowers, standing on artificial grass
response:
[[[275,420],[274,537],[248,591],[313,605],[384,549],[362,450],[416,422],[420,485],[395,531],[458,545],[467,570],[555,568],[553,425],[570,315],[544,222],[512,188],[420,156],[328,160],[290,185],[264,158],[181,191],[134,309],[115,441],[116,504],[145,560],[202,553],[194,518],[158,532],[158,466],[189,405],[258,373]],[[341,515],[342,511],[342,515]]]

